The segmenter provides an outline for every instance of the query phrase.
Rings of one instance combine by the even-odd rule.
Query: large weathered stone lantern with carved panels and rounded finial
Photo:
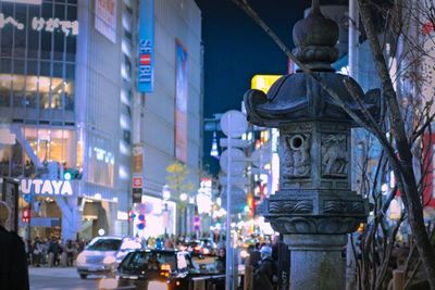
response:
[[[338,56],[338,26],[322,15],[319,1],[296,23],[293,37],[296,58],[363,117],[343,83],[347,76],[331,66]],[[375,94],[361,100],[374,116]],[[347,234],[369,214],[368,200],[351,191],[350,129],[357,124],[300,71],[279,78],[268,94],[249,90],[245,103],[251,123],[279,128],[279,191],[263,202],[262,213],[291,251],[290,289],[344,289]]]

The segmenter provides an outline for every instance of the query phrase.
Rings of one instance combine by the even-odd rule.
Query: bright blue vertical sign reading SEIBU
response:
[[[139,2],[139,55],[137,89],[152,92],[154,83],[154,1]]]

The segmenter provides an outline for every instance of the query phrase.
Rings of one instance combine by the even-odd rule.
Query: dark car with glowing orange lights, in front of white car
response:
[[[141,250],[128,253],[119,265],[112,288],[100,289],[137,289],[137,290],[172,290],[192,289],[198,279],[214,279],[224,287],[224,275],[201,273],[192,262],[190,254],[176,250]],[[109,285],[109,283],[104,283]],[[132,288],[129,288],[132,287]]]

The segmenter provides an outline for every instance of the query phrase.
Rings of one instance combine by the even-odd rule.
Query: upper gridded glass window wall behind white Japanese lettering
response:
[[[76,21],[76,4],[66,0],[41,5],[0,2],[4,17],[24,25],[24,29],[10,24],[0,29],[0,106],[74,110],[76,36],[66,36],[61,28],[36,29],[33,21]]]

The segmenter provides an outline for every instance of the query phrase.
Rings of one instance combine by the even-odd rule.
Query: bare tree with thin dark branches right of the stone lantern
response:
[[[279,46],[279,48],[294,61],[300,70],[310,74],[320,86],[335,100],[335,102],[345,110],[356,123],[366,129],[381,143],[383,152],[376,167],[376,179],[368,184],[371,185],[371,194],[375,201],[375,218],[372,220],[371,227],[365,229],[364,245],[365,250],[373,255],[378,249],[383,249],[383,260],[380,266],[372,264],[362,265],[360,268],[361,277],[363,278],[361,288],[363,289],[381,289],[384,286],[385,275],[388,269],[388,262],[395,245],[395,239],[400,224],[407,219],[414,241],[414,249],[418,250],[419,261],[423,265],[426,278],[431,289],[435,289],[435,253],[431,245],[430,234],[425,228],[423,220],[423,200],[424,191],[424,174],[427,173],[424,166],[415,166],[415,160],[420,156],[420,161],[432,159],[432,146],[423,147],[424,134],[432,134],[431,125],[434,121],[432,112],[432,100],[424,101],[422,96],[422,84],[427,81],[431,75],[424,74],[421,70],[422,58],[431,56],[427,51],[422,49],[422,43],[419,35],[411,33],[415,27],[420,27],[422,22],[428,23],[428,27],[435,27],[435,8],[433,1],[418,2],[412,0],[396,0],[396,1],[372,1],[358,0],[361,21],[363,24],[365,37],[370,43],[371,53],[376,66],[376,73],[381,79],[381,121],[375,118],[364,111],[361,100],[363,96],[352,87],[349,80],[345,79],[345,85],[349,90],[350,96],[361,104],[361,110],[364,111],[363,116],[358,116],[346,105],[340,99],[340,96],[328,87],[319,75],[313,74],[307,66],[299,62],[284,42],[270,29],[270,27],[259,17],[251,9],[247,0],[233,0],[240,7],[252,20],[260,25],[261,28]],[[386,3],[378,5],[376,3]],[[313,4],[319,5],[318,0],[313,0]],[[375,13],[378,12],[375,15]],[[381,22],[384,27],[380,27],[377,20],[383,17]],[[375,22],[376,20],[376,22]],[[352,20],[351,20],[352,21]],[[427,28],[426,26],[426,28]],[[378,29],[381,28],[381,29]],[[380,35],[380,31],[384,31]],[[399,70],[391,72],[389,63],[385,55],[385,45],[388,39],[390,52],[397,60]],[[432,40],[433,41],[433,40]],[[435,43],[435,41],[433,42]],[[406,51],[399,51],[399,45],[406,47]],[[412,90],[397,90],[395,81],[412,86]],[[387,137],[387,133],[388,136]],[[422,164],[425,164],[424,162]],[[427,169],[427,168],[426,168]],[[397,180],[395,187],[386,201],[381,202],[376,196],[376,185],[385,180],[386,172],[393,171]],[[369,189],[369,188],[366,188]],[[405,215],[400,218],[388,236],[388,240],[378,243],[378,229],[383,228],[383,220],[386,209],[390,201],[399,191],[403,204]],[[385,240],[385,239],[384,239]],[[376,248],[377,247],[377,248]],[[363,254],[368,253],[365,251]],[[365,255],[365,260],[370,260],[370,255]]]

